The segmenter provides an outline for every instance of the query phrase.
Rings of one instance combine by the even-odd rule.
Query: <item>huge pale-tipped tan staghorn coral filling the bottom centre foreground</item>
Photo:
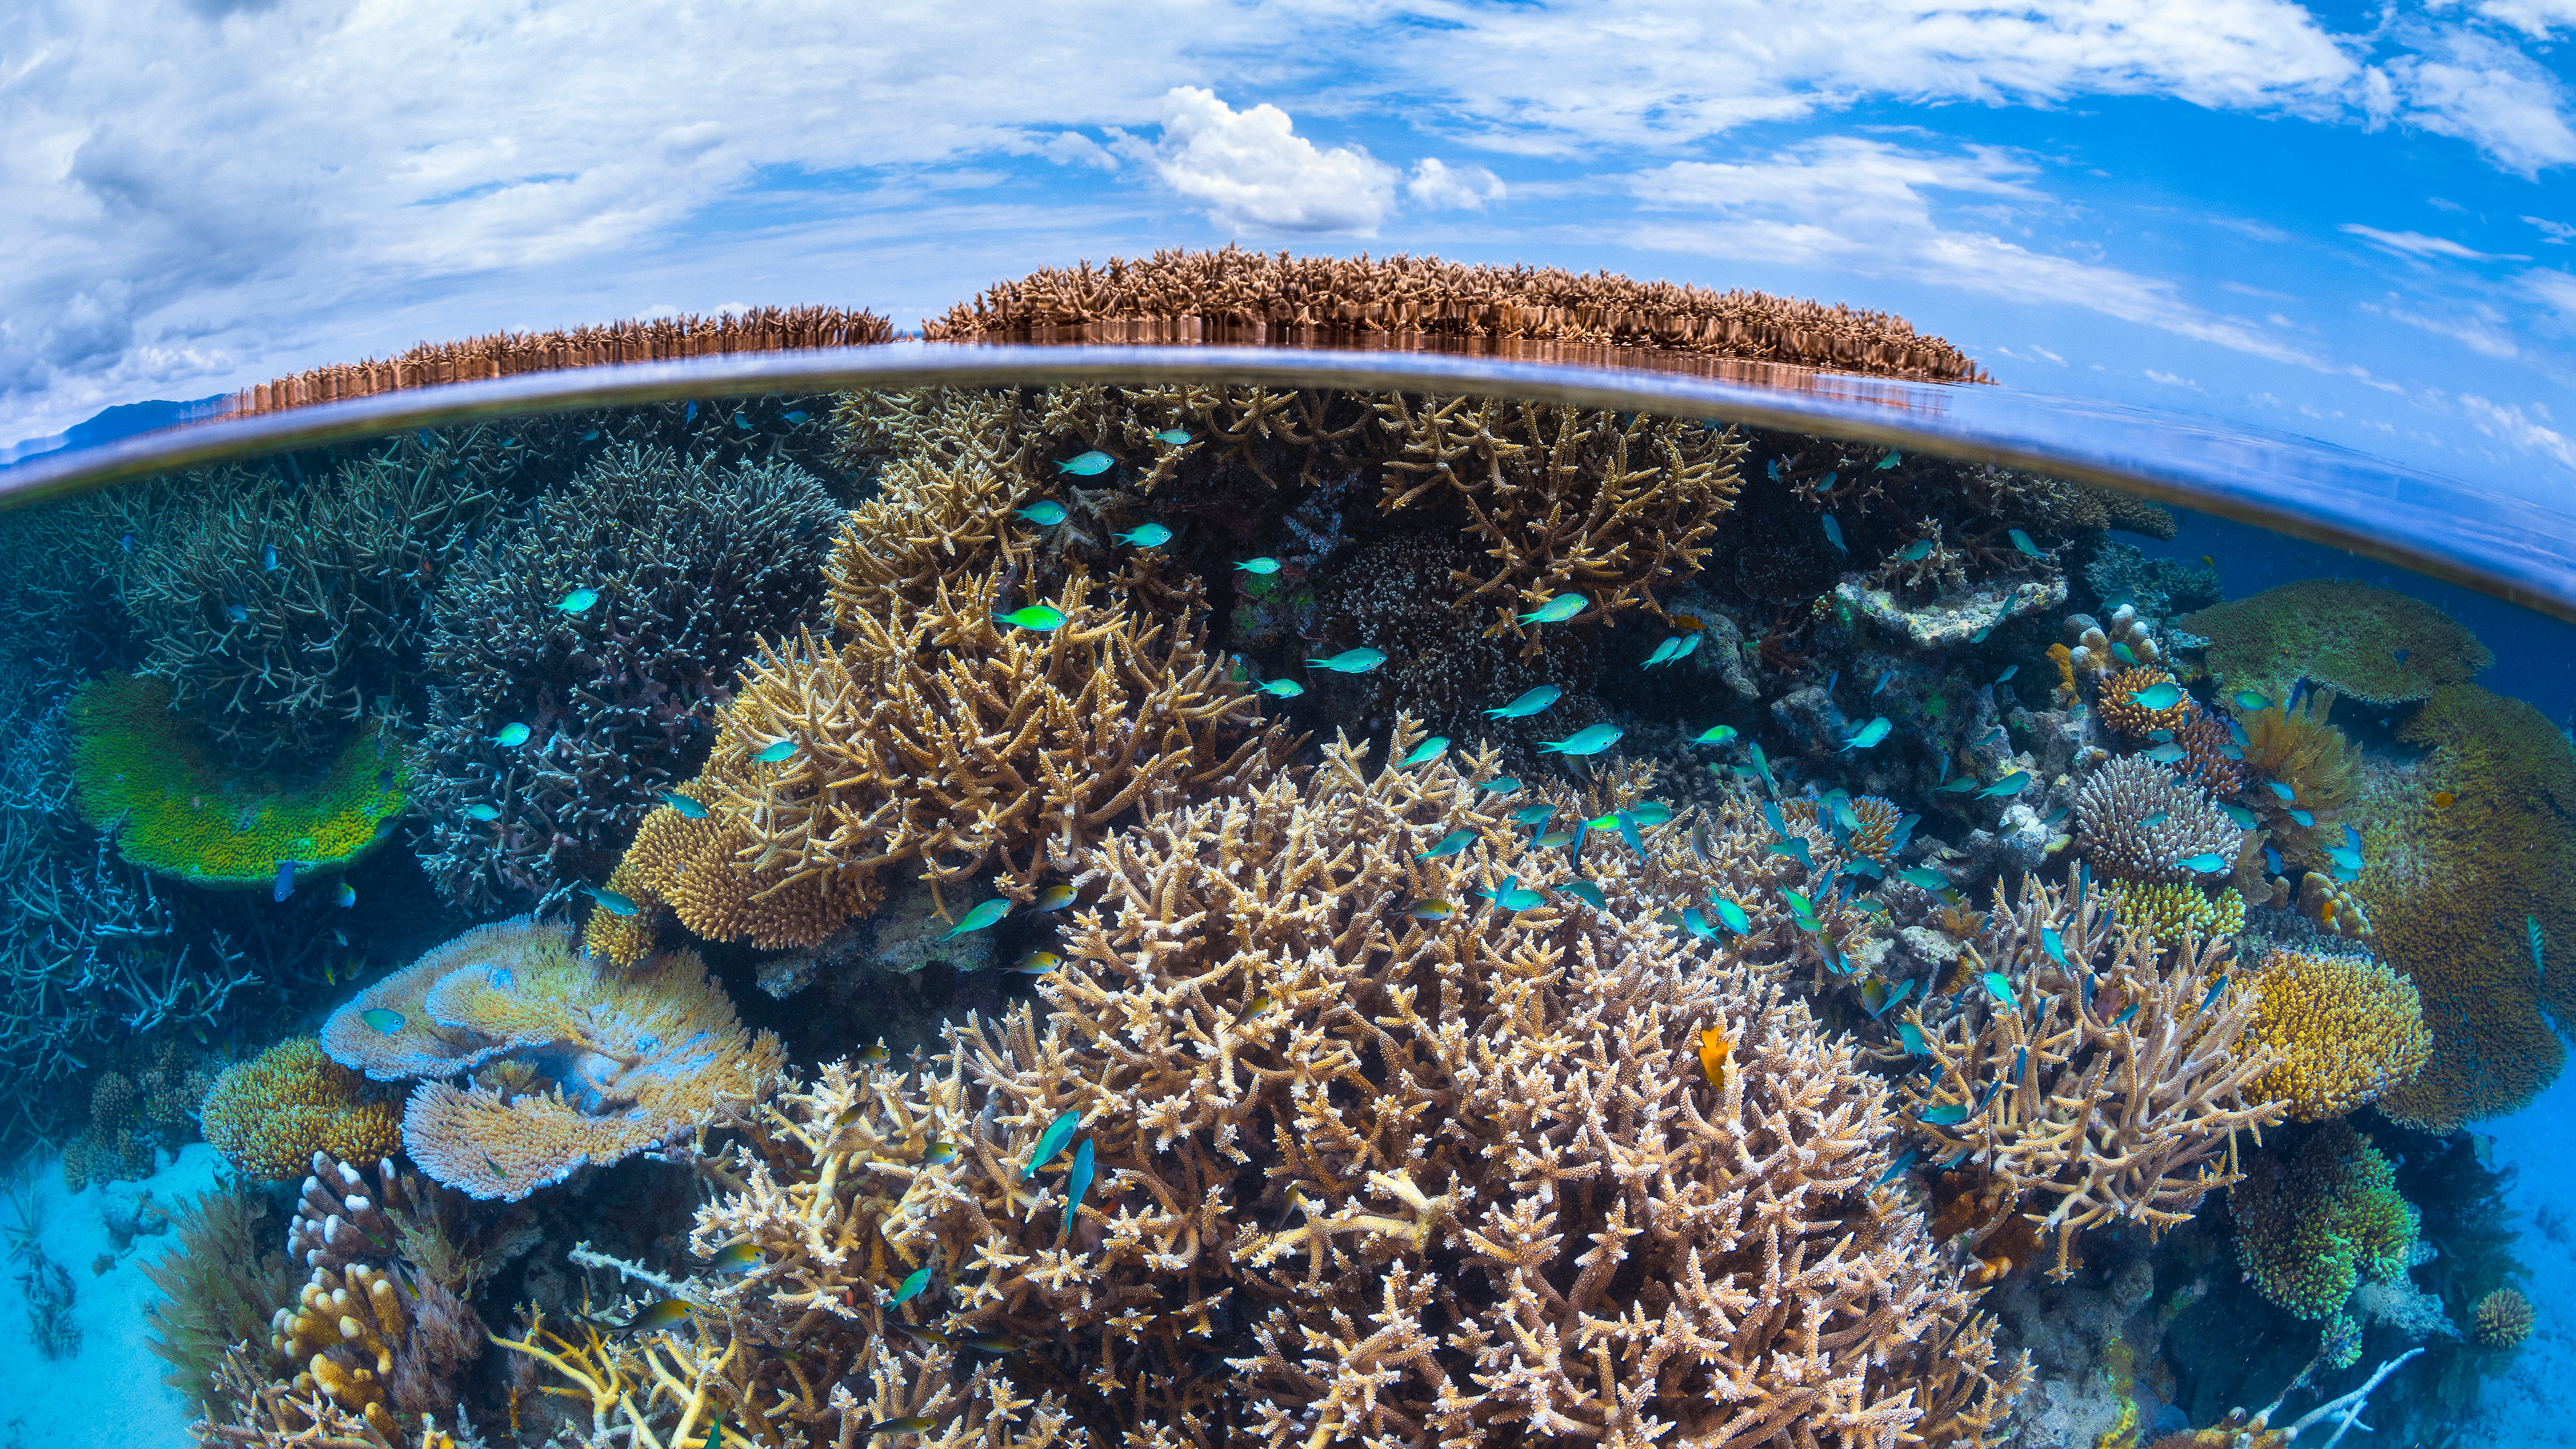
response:
[[[1388,750],[1419,737],[1399,719]],[[762,1439],[837,1441],[1007,1374],[1154,1444],[1999,1441],[2020,1369],[1888,1183],[1893,1119],[1852,1044],[1749,938],[1654,923],[1680,897],[1659,861],[1690,856],[1672,822],[1643,859],[1569,866],[1479,804],[1492,773],[1492,753],[1399,771],[1345,743],[1303,784],[1105,838],[1043,1026],[956,1026],[922,1073],[832,1065],[757,1116],[724,1163],[742,1189],[693,1235],[760,1253],[706,1289],[708,1369],[603,1428],[659,1436],[701,1392]],[[1422,859],[1450,830],[1473,846]],[[1504,877],[1548,895],[1473,895]],[[1607,910],[1551,890],[1574,877]],[[1427,895],[1476,905],[1391,910]],[[1718,1083],[1703,1026],[1739,1067]],[[1079,1204],[1023,1176],[1064,1111],[1100,1173]],[[930,1140],[961,1150],[933,1163]],[[966,1377],[948,1354],[979,1336],[1020,1348]],[[559,1359],[598,1392],[595,1351]]]

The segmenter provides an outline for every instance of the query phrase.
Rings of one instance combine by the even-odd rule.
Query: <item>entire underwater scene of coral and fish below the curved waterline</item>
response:
[[[2566,1441],[2548,559],[1703,413],[0,511],[8,1444]]]

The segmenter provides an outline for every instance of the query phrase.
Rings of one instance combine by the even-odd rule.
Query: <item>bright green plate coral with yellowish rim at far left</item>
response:
[[[116,835],[137,866],[216,890],[335,871],[381,843],[410,799],[410,766],[368,722],[322,771],[294,779],[222,763],[170,686],[98,676],[70,709],[72,784],[82,820]]]

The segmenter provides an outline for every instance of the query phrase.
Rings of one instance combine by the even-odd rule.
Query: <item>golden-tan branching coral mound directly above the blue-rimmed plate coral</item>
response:
[[[1012,629],[994,619],[1002,588],[943,580],[927,608],[853,611],[837,650],[811,634],[765,650],[683,786],[706,815],[644,820],[611,877],[644,913],[595,915],[590,949],[631,959],[662,905],[711,941],[811,946],[868,915],[896,864],[935,892],[999,871],[1028,900],[1128,810],[1226,789],[1285,753],[1188,614],[1139,621],[1090,603],[1074,575],[1046,601],[1061,627]],[[755,758],[775,745],[793,753]]]

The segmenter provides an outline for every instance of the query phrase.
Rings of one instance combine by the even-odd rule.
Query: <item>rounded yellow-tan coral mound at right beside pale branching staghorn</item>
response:
[[[2246,1042],[2280,1065],[2254,1091],[2290,1104],[2290,1122],[2357,1111],[2432,1057],[2416,987],[2370,957],[2272,951],[2251,977]]]

